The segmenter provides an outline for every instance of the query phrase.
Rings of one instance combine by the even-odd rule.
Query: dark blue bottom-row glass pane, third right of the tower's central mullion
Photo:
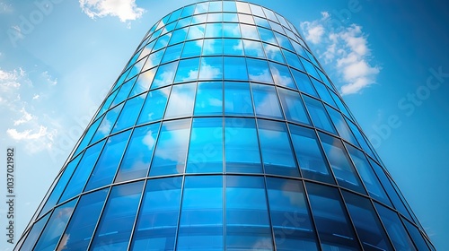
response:
[[[305,187],[320,236],[321,248],[323,250],[362,250],[341,202],[339,190],[308,182],[305,183]]]

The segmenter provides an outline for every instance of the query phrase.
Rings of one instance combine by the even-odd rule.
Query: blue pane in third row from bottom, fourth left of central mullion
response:
[[[136,120],[139,116],[140,109],[144,104],[145,97],[146,93],[137,96],[136,98],[127,100],[119,118],[117,119],[117,123],[112,129],[112,133],[119,132],[136,124]]]

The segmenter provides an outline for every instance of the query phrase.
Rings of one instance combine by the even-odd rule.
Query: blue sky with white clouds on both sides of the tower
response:
[[[146,30],[194,2],[0,0],[0,163],[14,147],[17,238]],[[250,2],[304,35],[437,249],[449,250],[449,4]],[[4,212],[1,203],[1,226]]]

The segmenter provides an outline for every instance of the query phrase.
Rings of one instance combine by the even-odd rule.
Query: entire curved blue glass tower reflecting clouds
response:
[[[147,32],[16,250],[435,250],[295,27],[190,4]]]

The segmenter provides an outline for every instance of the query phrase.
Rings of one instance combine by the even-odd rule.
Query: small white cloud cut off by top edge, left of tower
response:
[[[136,20],[145,12],[136,0],[79,0],[80,7],[90,18],[116,16],[120,22]]]

